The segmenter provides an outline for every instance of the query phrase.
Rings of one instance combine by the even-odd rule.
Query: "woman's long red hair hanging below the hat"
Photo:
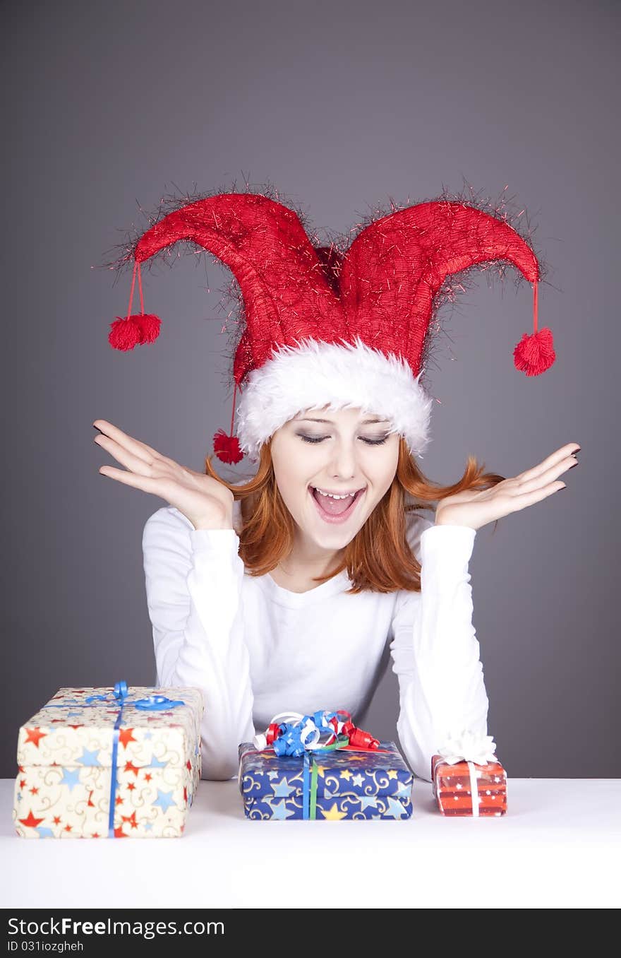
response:
[[[242,529],[239,535],[239,556],[252,576],[264,576],[286,559],[291,552],[295,521],[278,491],[272,462],[271,440],[260,448],[255,476],[243,486],[232,486],[211,466],[212,456],[205,460],[205,473],[217,479],[241,500]],[[406,441],[399,438],[399,459],[394,479],[384,497],[368,516],[364,526],[344,549],[341,564],[325,576],[316,576],[320,585],[344,569],[352,582],[347,593],[365,590],[395,592],[405,589],[420,592],[420,564],[412,555],[408,538],[407,516],[436,503],[446,496],[465,490],[491,489],[504,479],[494,472],[483,472],[474,456],[461,479],[453,486],[439,486],[427,479],[416,465]],[[415,500],[406,502],[406,494]]]

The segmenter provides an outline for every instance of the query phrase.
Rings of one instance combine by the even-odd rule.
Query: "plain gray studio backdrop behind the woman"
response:
[[[137,203],[272,183],[320,231],[464,179],[515,196],[548,266],[556,365],[527,378],[530,287],[485,276],[444,317],[433,442],[505,476],[576,441],[555,495],[477,533],[475,626],[489,730],[511,776],[610,777],[618,747],[618,115],[612,3],[181,2],[2,5],[5,657],[0,775],[60,686],[150,684],[141,536],[164,500],[100,478],[97,418],[192,468],[228,427],[231,274],[144,271],[155,346],[119,354],[105,252]],[[521,204],[521,205],[520,205]],[[137,304],[135,301],[135,305]],[[219,306],[220,304],[220,306]],[[320,704],[320,703],[318,703]],[[338,705],[338,703],[334,703]],[[390,672],[366,727],[393,738]]]

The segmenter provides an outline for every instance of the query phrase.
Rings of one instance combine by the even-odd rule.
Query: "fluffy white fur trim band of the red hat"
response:
[[[358,337],[353,343],[305,339],[272,356],[248,375],[236,409],[239,445],[252,461],[281,425],[326,405],[385,417],[414,455],[430,442],[433,400],[419,384],[422,374],[414,376],[402,357],[373,350]]]

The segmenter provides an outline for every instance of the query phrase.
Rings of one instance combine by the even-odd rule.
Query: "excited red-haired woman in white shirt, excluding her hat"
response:
[[[481,474],[471,457],[455,487],[438,488],[389,423],[369,418],[305,410],[263,446],[245,487],[217,479],[209,459],[203,475],[94,422],[95,442],[124,467],[100,473],[169,503],[143,539],[157,685],[203,691],[203,778],[236,775],[238,743],[285,710],[344,708],[364,727],[388,652],[399,741],[419,778],[431,781],[448,734],[487,734],[468,573],[476,531],[565,489],[579,446],[511,479]],[[406,493],[437,501],[434,522],[405,513]]]

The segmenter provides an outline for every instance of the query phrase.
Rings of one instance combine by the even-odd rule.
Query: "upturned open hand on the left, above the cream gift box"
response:
[[[233,529],[233,492],[217,479],[179,466],[111,422],[96,420],[93,425],[100,429],[95,442],[127,470],[102,466],[101,475],[162,496],[189,518],[194,529]]]

